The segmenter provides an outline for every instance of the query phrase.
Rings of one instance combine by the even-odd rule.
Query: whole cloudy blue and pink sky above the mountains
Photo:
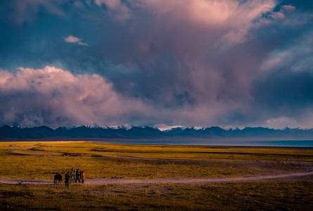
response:
[[[5,124],[313,128],[313,2],[2,0]]]

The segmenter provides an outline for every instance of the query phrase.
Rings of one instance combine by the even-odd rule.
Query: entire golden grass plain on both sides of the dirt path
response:
[[[1,142],[0,210],[312,210],[313,176],[193,184],[53,185],[56,172],[87,180],[217,179],[310,172],[312,148],[160,146],[84,141]]]

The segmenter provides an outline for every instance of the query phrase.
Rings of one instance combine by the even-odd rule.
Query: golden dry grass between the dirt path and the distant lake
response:
[[[79,168],[88,178],[220,178],[307,170],[310,149],[144,146],[89,142],[0,143],[0,177],[51,179]]]

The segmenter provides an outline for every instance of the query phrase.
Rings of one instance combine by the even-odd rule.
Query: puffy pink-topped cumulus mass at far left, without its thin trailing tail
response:
[[[72,75],[54,67],[0,71],[1,124],[21,126],[121,123],[144,112],[140,101],[116,94],[99,75]]]

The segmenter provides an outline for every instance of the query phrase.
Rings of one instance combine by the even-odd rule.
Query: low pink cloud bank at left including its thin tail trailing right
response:
[[[211,102],[210,107],[184,106],[159,109],[139,98],[127,98],[113,91],[112,84],[99,75],[73,75],[46,66],[19,68],[11,73],[0,70],[2,122],[21,126],[58,127],[73,124],[143,124],[151,122],[197,122],[207,125],[229,105]],[[231,105],[232,106],[232,105]]]

